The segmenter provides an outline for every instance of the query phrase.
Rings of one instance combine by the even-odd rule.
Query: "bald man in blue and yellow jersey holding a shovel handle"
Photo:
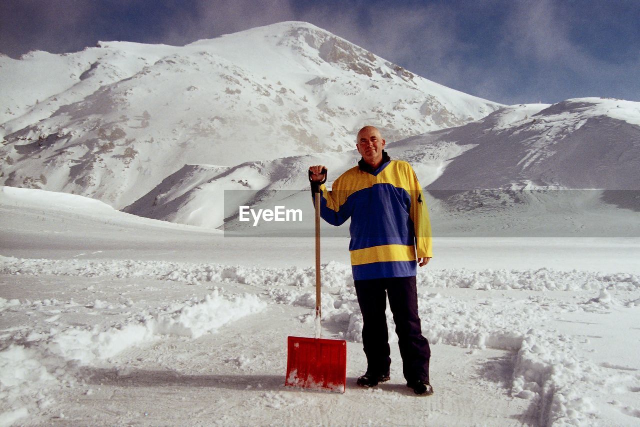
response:
[[[358,166],[340,175],[330,192],[319,185],[326,180],[324,166],[311,166],[312,191],[321,193],[324,221],[339,226],[351,218],[349,252],[367,356],[358,385],[374,387],[390,379],[388,295],[406,385],[416,394],[433,394],[431,350],[420,328],[415,282],[416,265],[427,265],[432,256],[429,214],[412,167],[391,160],[384,147],[380,131],[365,126],[356,138]]]

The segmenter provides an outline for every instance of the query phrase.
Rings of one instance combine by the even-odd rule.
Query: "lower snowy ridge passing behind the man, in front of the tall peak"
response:
[[[614,213],[609,205],[640,210],[634,199],[640,190],[639,125],[640,103],[570,99],[504,107],[480,121],[392,142],[387,149],[412,163],[429,190],[441,235],[509,228],[519,235],[637,235],[637,213]],[[234,229],[243,225],[237,222],[241,204],[273,208],[286,197],[287,206],[310,209],[308,165],[326,165],[330,184],[359,157],[353,150],[234,167],[186,165],[125,212],[210,228],[226,219],[225,230]],[[544,191],[589,188],[636,192]],[[225,190],[246,191],[234,192],[234,203],[225,204]]]

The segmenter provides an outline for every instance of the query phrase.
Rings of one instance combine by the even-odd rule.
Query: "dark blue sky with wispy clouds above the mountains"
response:
[[[0,53],[182,46],[281,21],[499,103],[640,101],[640,0],[0,0]]]

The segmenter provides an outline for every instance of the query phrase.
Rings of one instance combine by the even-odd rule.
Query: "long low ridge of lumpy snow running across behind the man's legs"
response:
[[[351,285],[351,268],[337,262],[323,264],[323,286]],[[155,278],[198,284],[202,281],[235,281],[249,285],[312,286],[312,267],[266,268],[241,265],[193,264],[136,260],[46,260],[0,256],[0,274],[54,274],[62,276],[116,276],[117,278]],[[640,275],[618,272],[553,269],[467,269],[419,270],[422,286],[434,288],[520,289],[520,290],[600,290],[640,288]]]

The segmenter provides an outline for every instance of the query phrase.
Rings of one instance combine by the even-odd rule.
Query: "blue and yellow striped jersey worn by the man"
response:
[[[344,172],[332,191],[321,185],[320,215],[335,226],[351,218],[354,280],[415,276],[416,258],[432,256],[429,213],[415,172],[401,160],[363,169]]]

